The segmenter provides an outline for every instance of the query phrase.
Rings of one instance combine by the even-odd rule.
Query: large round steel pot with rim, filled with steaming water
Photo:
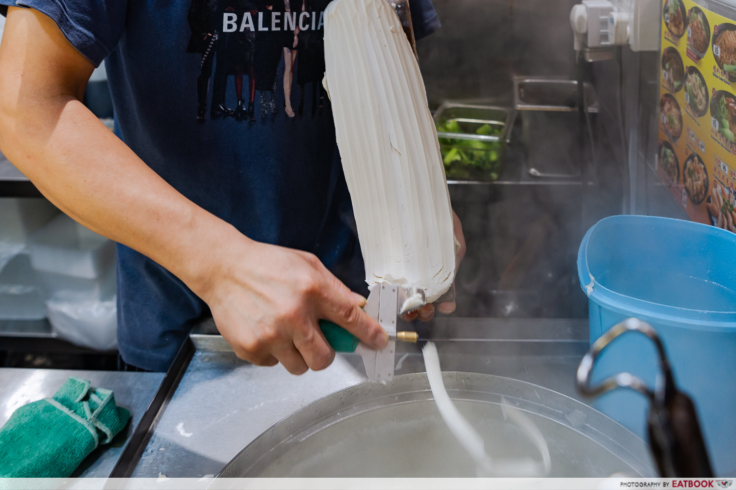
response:
[[[644,442],[555,391],[488,374],[447,372],[447,393],[491,457],[537,449],[503,419],[501,396],[545,435],[552,477],[655,476]],[[303,407],[255,438],[218,477],[473,477],[475,466],[445,426],[426,374],[364,383]]]

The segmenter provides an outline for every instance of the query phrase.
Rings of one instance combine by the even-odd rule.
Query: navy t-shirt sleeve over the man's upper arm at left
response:
[[[94,66],[115,49],[125,28],[127,0],[0,0],[0,13],[9,5],[47,15]]]

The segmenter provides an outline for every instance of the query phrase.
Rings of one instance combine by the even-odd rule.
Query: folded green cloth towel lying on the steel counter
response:
[[[70,377],[52,398],[15,410],[0,429],[0,477],[68,477],[128,419],[112,391]]]

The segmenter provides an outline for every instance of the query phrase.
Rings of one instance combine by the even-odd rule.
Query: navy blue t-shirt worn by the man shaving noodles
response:
[[[366,294],[322,89],[328,3],[0,0],[48,15],[95,66],[105,59],[116,133],[171,186],[247,237],[315,253]],[[410,7],[417,38],[439,27],[431,0]],[[127,363],[166,370],[207,306],[124,245],[117,272],[118,349]]]

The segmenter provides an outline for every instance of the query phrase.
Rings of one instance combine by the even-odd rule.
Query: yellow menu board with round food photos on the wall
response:
[[[736,232],[736,21],[664,0],[657,175],[693,221]]]

